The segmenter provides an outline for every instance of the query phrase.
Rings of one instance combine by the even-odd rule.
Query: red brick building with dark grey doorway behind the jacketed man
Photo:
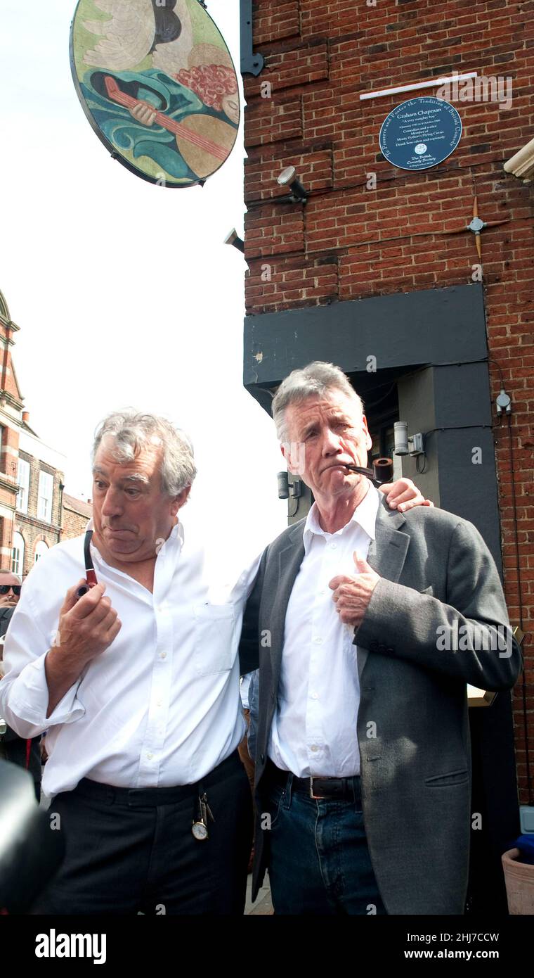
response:
[[[470,519],[502,571],[525,670],[512,703],[502,694],[471,711],[484,830],[472,832],[470,899],[473,911],[503,909],[500,853],[518,834],[518,801],[534,803],[534,4],[241,6],[254,42],[243,59],[245,386],[268,411],[294,368],[341,366],[366,404],[373,454],[390,454],[395,421],[421,433],[423,455],[404,456],[403,474]],[[471,88],[461,74],[476,76]],[[382,124],[408,100],[444,98],[444,77],[457,148],[429,169],[392,165]],[[289,166],[305,201],[277,183]],[[294,518],[309,504],[291,500]]]

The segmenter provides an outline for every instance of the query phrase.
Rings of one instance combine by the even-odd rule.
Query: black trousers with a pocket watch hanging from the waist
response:
[[[49,817],[65,858],[31,912],[242,914],[252,801],[237,751],[202,786],[215,819],[202,841],[191,832],[197,785],[129,790],[84,778],[56,795]]]

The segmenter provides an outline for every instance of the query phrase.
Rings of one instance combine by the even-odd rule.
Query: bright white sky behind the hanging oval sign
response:
[[[184,511],[228,570],[286,525],[272,422],[242,386],[242,131],[205,187],[154,187],[109,156],[72,83],[75,0],[1,0],[0,289],[21,327],[30,424],[91,497],[89,451],[108,411],[165,415],[199,475]],[[208,0],[239,67],[239,0]],[[238,71],[239,73],[239,71]]]

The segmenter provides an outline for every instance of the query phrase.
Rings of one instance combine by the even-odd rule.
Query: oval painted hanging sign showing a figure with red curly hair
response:
[[[199,0],[79,0],[70,63],[97,135],[144,180],[191,187],[231,153],[237,75]]]

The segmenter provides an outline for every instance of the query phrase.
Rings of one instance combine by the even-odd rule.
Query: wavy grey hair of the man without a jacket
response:
[[[196,475],[193,447],[180,428],[157,415],[142,415],[133,409],[114,411],[103,419],[95,434],[92,463],[103,438],[110,435],[114,445],[110,454],[119,463],[132,462],[144,448],[161,443],[161,490],[166,495],[178,496],[192,485]]]

